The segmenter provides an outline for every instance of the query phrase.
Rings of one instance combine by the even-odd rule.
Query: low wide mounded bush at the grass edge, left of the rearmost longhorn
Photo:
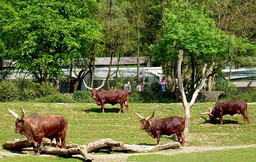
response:
[[[53,95],[48,95],[43,98],[36,98],[32,100],[33,102],[42,102],[42,103],[75,103],[72,98],[61,93],[55,93]]]

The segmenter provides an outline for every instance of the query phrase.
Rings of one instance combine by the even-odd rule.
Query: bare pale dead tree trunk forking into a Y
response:
[[[208,70],[208,72],[206,74],[205,74],[205,70],[207,68],[207,64],[204,64],[204,68],[202,70],[202,80],[201,80],[201,83],[197,87],[197,89],[195,90],[190,103],[188,103],[188,101],[186,100],[185,92],[183,90],[183,78],[181,76],[182,57],[183,57],[183,50],[180,50],[179,51],[179,60],[178,60],[178,64],[177,64],[177,78],[178,78],[178,84],[179,84],[178,86],[179,86],[179,90],[180,90],[180,96],[181,96],[181,100],[182,100],[183,107],[184,107],[184,112],[185,112],[184,136],[185,136],[185,141],[186,141],[186,139],[188,139],[188,135],[189,135],[189,124],[190,124],[190,119],[191,119],[191,116],[190,116],[191,108],[192,108],[193,104],[195,103],[195,99],[197,98],[198,93],[202,90],[206,78],[212,72],[212,69],[214,67],[214,63],[209,68],[209,70]]]

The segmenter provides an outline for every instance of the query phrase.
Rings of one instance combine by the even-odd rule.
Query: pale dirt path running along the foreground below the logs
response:
[[[93,162],[114,162],[114,161],[126,162],[126,158],[128,156],[136,156],[136,155],[145,155],[145,154],[174,155],[177,153],[193,153],[193,152],[204,152],[204,151],[210,151],[210,150],[226,150],[226,149],[249,148],[249,147],[256,147],[256,145],[239,145],[239,146],[224,146],[224,147],[192,147],[192,146],[186,147],[185,146],[182,149],[169,149],[169,150],[162,150],[162,151],[156,151],[156,152],[150,152],[150,153],[123,153],[123,154],[107,154],[107,155],[106,154],[96,155],[96,154],[90,153],[89,155],[95,158]],[[10,153],[10,152],[0,151],[0,158],[13,157],[13,156],[27,156],[27,155],[20,154],[20,153]],[[40,156],[52,156],[52,155],[41,154]]]

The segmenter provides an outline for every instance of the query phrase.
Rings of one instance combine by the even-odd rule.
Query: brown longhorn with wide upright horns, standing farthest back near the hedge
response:
[[[104,113],[104,104],[115,105],[119,103],[120,103],[121,109],[119,110],[118,114],[121,113],[122,108],[124,107],[124,104],[126,107],[126,113],[128,113],[129,110],[128,110],[127,100],[130,99],[129,91],[128,90],[99,90],[101,87],[103,87],[104,82],[105,80],[103,80],[103,83],[100,87],[95,89],[88,87],[84,82],[84,86],[90,90],[94,100],[96,101],[96,104],[101,106],[102,108],[101,113]]]

